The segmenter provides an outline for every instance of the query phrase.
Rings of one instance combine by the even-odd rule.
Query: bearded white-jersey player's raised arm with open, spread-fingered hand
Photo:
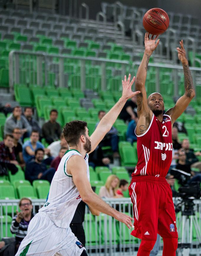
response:
[[[116,121],[119,113],[121,112],[121,109],[125,105],[126,101],[129,98],[132,98],[134,95],[140,93],[140,91],[133,92],[131,87],[134,83],[135,77],[130,81],[131,74],[128,76],[128,80],[126,76],[124,77],[124,80],[122,80],[122,96],[119,99],[119,101],[110,109],[110,111],[101,119],[100,123],[98,124],[97,128],[93,132],[93,134],[90,136],[91,139],[91,151],[95,150],[95,148],[98,146],[98,144],[101,142],[101,140],[104,138],[106,133],[110,131],[112,125]]]

